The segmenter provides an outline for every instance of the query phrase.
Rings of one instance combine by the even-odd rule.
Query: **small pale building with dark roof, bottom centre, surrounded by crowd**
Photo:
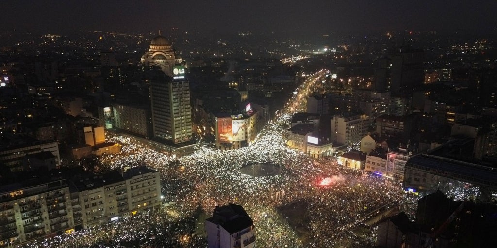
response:
[[[254,248],[255,227],[242,206],[216,207],[205,221],[208,248]]]

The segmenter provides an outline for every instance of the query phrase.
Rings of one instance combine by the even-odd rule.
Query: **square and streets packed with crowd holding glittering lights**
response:
[[[361,223],[364,216],[385,204],[412,207],[402,205],[407,201],[400,183],[334,160],[314,160],[285,145],[292,114],[305,110],[305,99],[327,73],[308,75],[249,147],[199,147],[192,155],[172,159],[112,138],[123,151],[103,157],[103,163],[111,169],[146,164],[160,171],[165,206],[24,247],[207,247],[204,220],[215,206],[230,202],[242,205],[253,219],[257,247],[371,247],[374,234]],[[280,174],[251,177],[240,172],[253,163],[278,165]]]

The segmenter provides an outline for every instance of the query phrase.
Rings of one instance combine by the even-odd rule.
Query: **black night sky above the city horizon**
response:
[[[39,32],[496,31],[496,0],[1,0],[2,29]]]

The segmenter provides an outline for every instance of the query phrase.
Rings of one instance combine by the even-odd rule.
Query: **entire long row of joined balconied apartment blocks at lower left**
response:
[[[102,175],[61,171],[0,186],[0,246],[99,225],[160,207],[158,171],[146,167]]]

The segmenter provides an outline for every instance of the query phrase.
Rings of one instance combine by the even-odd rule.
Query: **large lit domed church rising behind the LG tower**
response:
[[[159,36],[150,41],[149,51],[142,56],[141,61],[143,65],[158,65],[164,73],[172,76],[172,67],[182,60],[175,58],[171,43],[159,32]]]

